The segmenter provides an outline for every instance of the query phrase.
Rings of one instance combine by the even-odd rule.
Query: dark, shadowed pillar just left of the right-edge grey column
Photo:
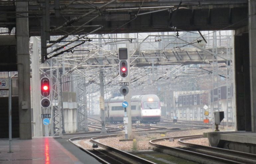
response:
[[[248,34],[234,37],[236,122],[238,131],[251,131]]]

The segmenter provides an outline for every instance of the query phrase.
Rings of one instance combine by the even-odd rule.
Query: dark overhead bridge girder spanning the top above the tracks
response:
[[[43,1],[44,2],[44,1]],[[43,2],[29,3],[29,31],[30,36],[41,35],[41,20]],[[100,6],[109,1],[84,1],[67,4],[70,1],[60,1],[59,9],[55,4],[49,4],[51,35],[64,35],[72,32],[75,28],[88,22],[86,26],[75,30],[72,34],[85,34],[95,29],[95,25],[103,28],[95,33],[127,33],[127,32],[154,32],[176,30],[197,31],[197,30],[221,30],[238,29],[246,26],[248,16],[248,5],[246,0],[241,1],[152,1],[146,0],[143,3],[133,1],[116,1],[104,8]],[[67,7],[65,7],[65,5]],[[177,10],[179,6],[179,9]],[[96,10],[95,10],[96,9]],[[165,10],[166,9],[166,10]],[[95,10],[94,12],[92,12]],[[164,11],[161,11],[164,10]],[[15,12],[15,6],[11,2],[0,3],[0,27],[9,29],[16,26],[16,18],[19,13]],[[156,12],[158,11],[158,12]],[[56,16],[56,12],[60,16]],[[91,12],[81,18],[82,15]],[[15,15],[17,14],[17,16]],[[142,14],[142,15],[139,15]],[[92,18],[98,16],[89,22]],[[73,21],[79,18],[78,21]],[[47,19],[47,18],[46,18]],[[59,27],[67,22],[67,26]],[[88,26],[89,25],[89,26]],[[55,28],[55,29],[54,29]],[[97,27],[96,27],[97,28]]]

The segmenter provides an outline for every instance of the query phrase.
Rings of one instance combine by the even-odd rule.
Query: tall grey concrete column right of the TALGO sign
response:
[[[16,2],[20,139],[32,139],[28,2]],[[23,16],[24,18],[21,18]]]

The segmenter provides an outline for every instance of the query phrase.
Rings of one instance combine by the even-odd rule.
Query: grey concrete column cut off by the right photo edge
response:
[[[252,132],[256,132],[256,0],[248,0]]]

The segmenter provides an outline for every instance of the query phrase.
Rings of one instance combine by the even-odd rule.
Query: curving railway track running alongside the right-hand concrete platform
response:
[[[170,138],[151,140],[150,144],[155,146],[152,148],[155,151],[167,153],[169,155],[177,156],[202,164],[255,164],[256,162],[255,154],[190,144],[185,142],[185,140],[201,137],[202,135],[175,137],[174,139],[179,139],[179,143],[185,145],[181,147],[169,147],[155,143],[161,140],[169,140]]]

